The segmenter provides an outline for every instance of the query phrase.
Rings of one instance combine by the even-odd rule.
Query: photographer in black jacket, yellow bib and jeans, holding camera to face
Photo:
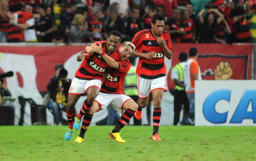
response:
[[[68,72],[64,69],[63,64],[57,64],[55,66],[55,76],[51,78],[47,85],[51,98],[47,107],[52,110],[56,125],[60,123],[59,110],[66,111],[68,92],[71,85],[71,79],[67,78],[67,75]]]

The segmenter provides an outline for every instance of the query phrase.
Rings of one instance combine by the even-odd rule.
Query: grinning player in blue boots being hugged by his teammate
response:
[[[66,110],[66,116],[69,122],[69,127],[65,134],[65,139],[70,140],[73,134],[73,124],[76,115],[75,105],[81,95],[86,92],[87,99],[83,103],[84,112],[89,111],[95,97],[100,92],[103,81],[104,71],[109,68],[109,65],[102,58],[103,54],[109,55],[115,61],[121,59],[121,53],[116,50],[116,47],[121,42],[121,33],[119,31],[111,31],[107,37],[107,41],[95,42],[102,44],[103,52],[95,53],[85,57],[85,53],[89,53],[90,47],[86,47],[85,51],[78,55],[77,60],[83,61],[76,71],[75,77],[72,80],[69,88],[69,97]]]

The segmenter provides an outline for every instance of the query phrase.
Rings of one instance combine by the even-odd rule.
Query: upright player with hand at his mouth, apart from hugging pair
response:
[[[142,30],[135,34],[132,43],[136,50],[132,53],[140,57],[136,74],[138,76],[139,108],[135,117],[141,119],[142,108],[147,106],[149,94],[153,95],[153,135],[152,140],[161,140],[158,131],[161,119],[161,99],[166,87],[166,66],[164,56],[171,59],[173,47],[170,34],[164,31],[165,19],[156,13],[152,18],[151,29]]]

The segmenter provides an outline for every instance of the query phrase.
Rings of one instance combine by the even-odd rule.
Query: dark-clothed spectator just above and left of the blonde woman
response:
[[[76,12],[77,2],[75,0],[71,0],[65,4],[67,9],[62,12],[61,24],[67,25],[70,28],[71,22],[73,21]]]

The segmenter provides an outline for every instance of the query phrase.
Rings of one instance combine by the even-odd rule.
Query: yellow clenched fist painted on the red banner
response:
[[[221,61],[214,69],[215,80],[228,80],[233,75],[233,70],[229,62]]]

